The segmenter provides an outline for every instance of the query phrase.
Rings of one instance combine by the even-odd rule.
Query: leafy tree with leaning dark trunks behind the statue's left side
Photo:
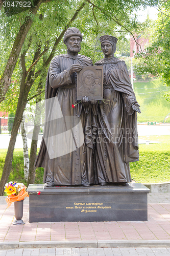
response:
[[[3,108],[9,104],[16,111],[0,182],[0,195],[3,194],[4,183],[10,174],[23,111],[28,102],[34,103],[37,96],[44,92],[45,77],[52,58],[66,52],[62,42],[66,29],[70,26],[80,29],[83,33],[81,54],[91,57],[95,62],[102,57],[99,41],[101,35],[111,34],[123,39],[127,31],[132,33],[140,25],[134,12],[140,6],[155,5],[157,1],[40,0],[38,3],[36,10],[32,8],[11,17],[5,17],[3,10],[0,14],[0,42],[6,52],[4,56],[3,50],[0,51],[0,57],[4,57],[0,63],[0,94],[3,92],[0,102],[6,96],[6,100],[1,103]],[[11,56],[14,56],[14,62],[11,62]]]

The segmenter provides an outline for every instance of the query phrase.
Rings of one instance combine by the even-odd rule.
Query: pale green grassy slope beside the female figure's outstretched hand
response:
[[[170,88],[164,86],[160,79],[134,82],[134,92],[141,109],[138,122],[163,122],[170,112],[170,102],[163,97],[168,91]],[[170,122],[170,117],[166,122]]]

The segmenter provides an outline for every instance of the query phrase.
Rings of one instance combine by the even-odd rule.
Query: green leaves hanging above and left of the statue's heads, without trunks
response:
[[[66,52],[66,47],[63,45],[63,42],[60,40],[57,47],[55,47],[55,41],[58,37],[57,35],[60,35],[63,28],[66,25],[69,26],[71,17],[81,3],[81,0],[66,0],[62,2],[57,0],[41,3],[20,51],[21,54],[27,50],[25,56],[26,69],[30,68],[34,52],[38,45],[41,47],[40,53],[43,54],[36,63],[36,67],[34,67],[37,72],[35,72],[35,76],[32,77],[34,86],[30,90],[29,99],[37,94],[37,90],[39,91],[37,87],[40,80],[43,85],[45,84],[45,76],[48,65],[50,64],[49,60],[52,54],[52,49],[54,48],[54,54]],[[71,26],[78,27],[84,34],[81,54],[91,57],[93,62],[95,62],[103,56],[99,41],[99,37],[102,34],[112,34],[117,36],[120,41],[123,41],[127,31],[134,31],[141,27],[141,24],[139,24],[136,19],[135,11],[139,10],[141,6],[156,5],[157,1],[85,0],[84,3],[85,5],[83,9],[78,14],[76,20],[72,22]],[[14,41],[19,33],[19,27],[25,24],[28,15],[29,11],[10,17],[6,17],[3,10],[0,13],[0,28],[2,35],[0,38],[2,46],[0,57],[3,60],[0,63],[0,74],[2,76],[6,63],[9,60]],[[46,51],[44,52],[45,49]],[[44,62],[46,62],[47,65],[44,66]],[[11,77],[12,82],[6,93],[6,103],[1,104],[3,109],[12,108],[16,110],[20,90],[19,73],[20,65],[18,60]]]

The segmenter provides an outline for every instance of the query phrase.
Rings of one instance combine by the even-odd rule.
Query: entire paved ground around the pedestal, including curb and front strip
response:
[[[149,194],[148,203],[145,222],[29,223],[27,198],[22,218],[26,224],[16,226],[13,204],[7,208],[1,197],[0,256],[170,255],[170,193]]]

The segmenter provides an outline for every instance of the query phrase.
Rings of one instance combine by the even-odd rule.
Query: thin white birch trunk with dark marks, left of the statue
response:
[[[20,124],[21,135],[23,142],[23,162],[24,162],[24,178],[28,181],[29,176],[29,154],[28,154],[28,143],[27,143],[27,133],[25,128],[25,115],[22,116],[22,121]]]

